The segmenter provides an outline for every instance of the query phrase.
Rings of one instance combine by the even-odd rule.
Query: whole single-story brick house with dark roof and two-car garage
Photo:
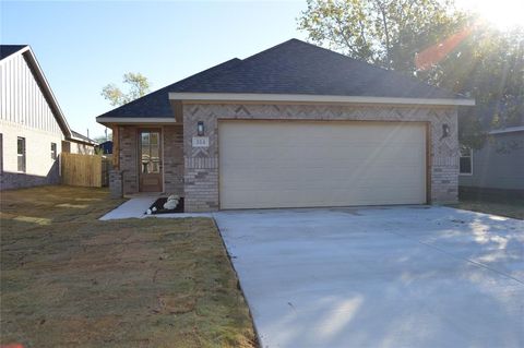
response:
[[[457,106],[474,100],[291,39],[97,117],[114,195],[187,212],[457,200]]]

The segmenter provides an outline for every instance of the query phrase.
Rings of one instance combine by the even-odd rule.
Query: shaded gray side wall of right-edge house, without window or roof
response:
[[[458,184],[524,190],[524,132],[492,135],[473,152],[473,175],[461,175]]]

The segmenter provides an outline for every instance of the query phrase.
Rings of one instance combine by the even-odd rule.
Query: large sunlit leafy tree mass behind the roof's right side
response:
[[[308,0],[298,27],[352,58],[472,96],[460,110],[461,142],[479,147],[492,127],[524,108],[523,32],[501,33],[452,0]]]

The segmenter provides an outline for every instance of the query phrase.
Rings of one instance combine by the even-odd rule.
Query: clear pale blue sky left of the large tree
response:
[[[100,96],[122,74],[140,72],[152,91],[291,37],[305,1],[0,0],[1,44],[28,44],[71,125],[104,134]]]

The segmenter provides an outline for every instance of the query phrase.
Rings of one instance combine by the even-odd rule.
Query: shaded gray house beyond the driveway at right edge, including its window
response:
[[[465,191],[509,190],[524,196],[524,125],[488,135],[480,149],[461,147],[458,184]]]

